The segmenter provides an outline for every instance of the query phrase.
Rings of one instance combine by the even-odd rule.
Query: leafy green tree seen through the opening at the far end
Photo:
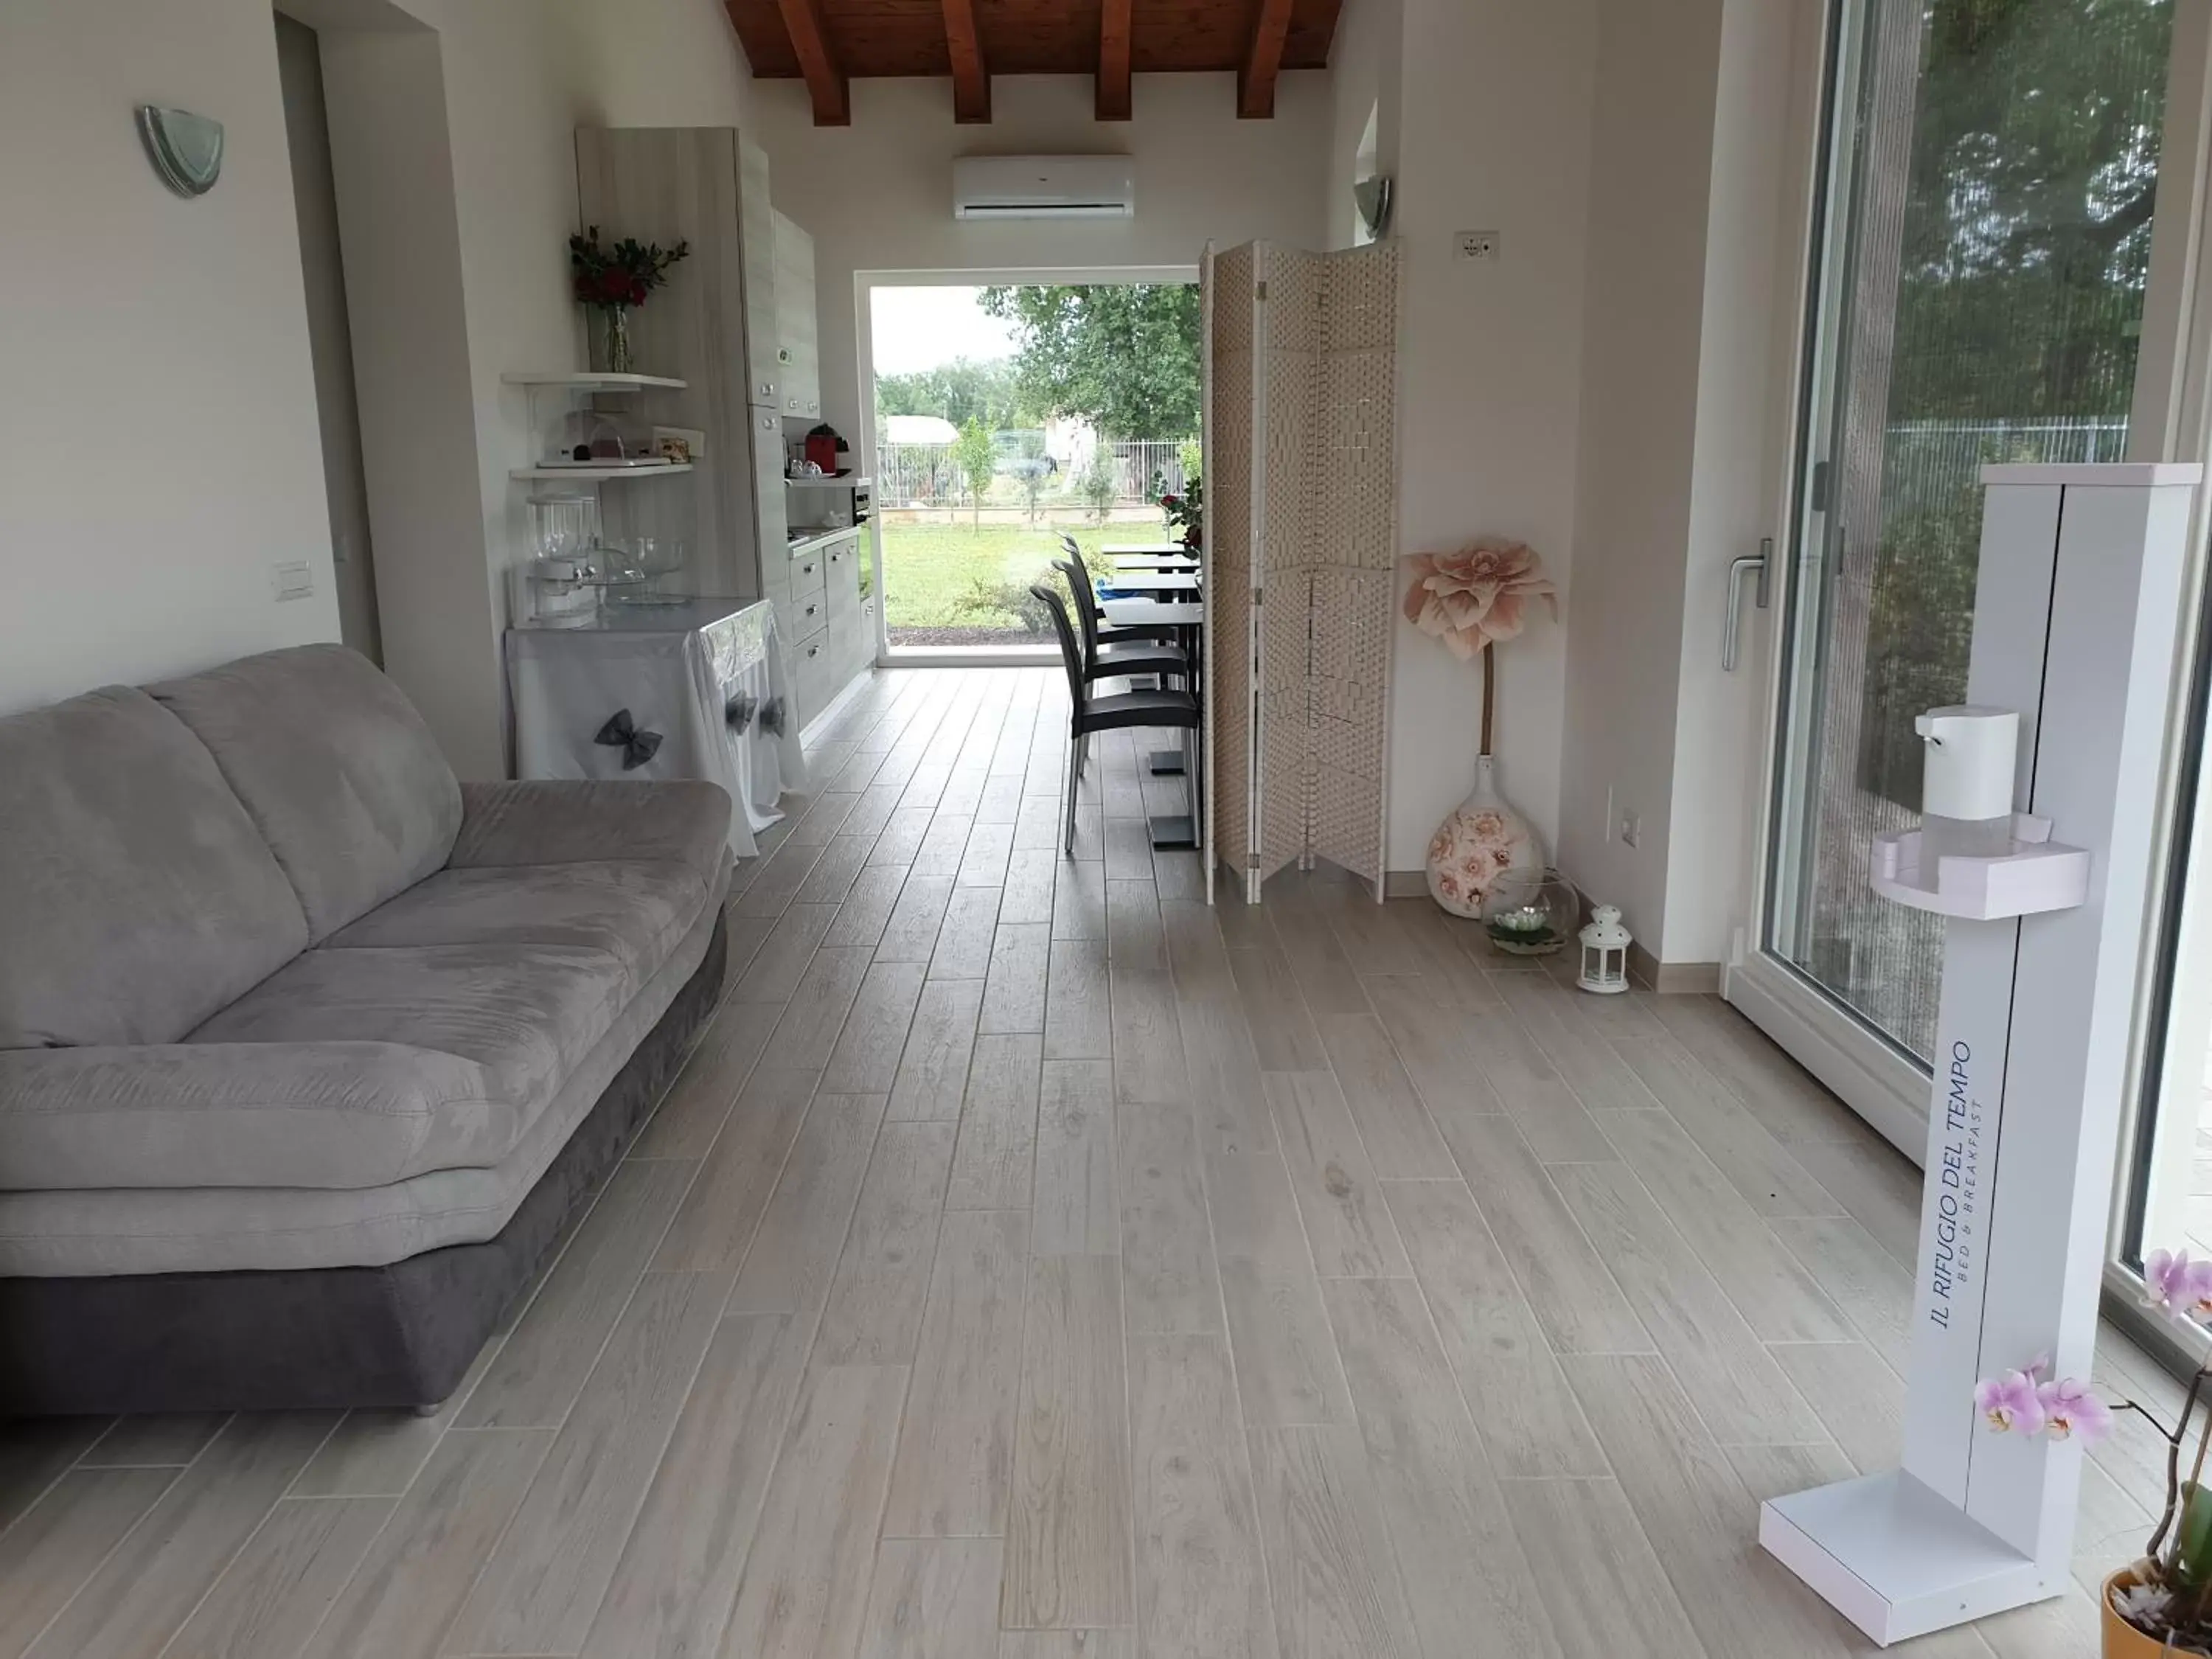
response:
[[[1181,438],[1199,429],[1192,283],[987,288],[982,307],[1013,323],[1013,374],[1026,407],[1077,416],[1104,438]]]

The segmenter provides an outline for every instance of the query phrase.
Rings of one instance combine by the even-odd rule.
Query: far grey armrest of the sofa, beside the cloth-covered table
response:
[[[462,783],[460,807],[449,869],[624,858],[690,865],[712,887],[730,863],[730,796],[719,783]]]

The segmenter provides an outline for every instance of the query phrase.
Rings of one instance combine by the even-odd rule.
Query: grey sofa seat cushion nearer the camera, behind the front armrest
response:
[[[575,945],[307,951],[188,1042],[434,1048],[482,1066],[491,1099],[535,1110],[628,1000],[622,958]]]

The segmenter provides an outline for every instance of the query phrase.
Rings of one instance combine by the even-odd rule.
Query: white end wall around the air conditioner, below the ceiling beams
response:
[[[752,86],[770,190],[814,237],[823,418],[858,442],[863,369],[854,272],[1194,268],[1206,241],[1325,248],[1329,86],[1283,75],[1274,119],[1237,119],[1234,75],[1139,75],[1135,119],[1093,119],[1088,75],[1002,75],[991,126],[953,126],[951,82],[863,80],[852,126],[816,128],[794,80]],[[960,223],[958,155],[1130,155],[1137,217]]]

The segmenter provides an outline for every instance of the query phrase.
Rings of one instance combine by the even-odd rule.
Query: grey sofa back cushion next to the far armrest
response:
[[[460,785],[365,657],[296,646],[148,690],[215,754],[299,891],[310,938],[445,867]]]

